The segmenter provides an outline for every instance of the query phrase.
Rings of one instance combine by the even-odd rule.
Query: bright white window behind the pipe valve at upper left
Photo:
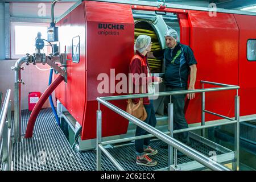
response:
[[[38,32],[41,32],[41,38],[47,40],[47,27],[46,23],[11,22],[11,58],[16,59],[26,53],[35,53],[35,38]],[[44,45],[48,43],[44,42]],[[51,47],[45,46],[41,52],[48,55],[51,53]]]

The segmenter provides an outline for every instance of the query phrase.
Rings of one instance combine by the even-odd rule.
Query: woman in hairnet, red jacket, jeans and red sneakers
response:
[[[151,38],[147,35],[139,35],[136,39],[134,50],[135,55],[131,59],[129,73],[133,74],[133,93],[138,94],[139,92],[148,93],[147,85],[151,82],[162,82],[162,78],[150,76],[150,68],[147,61],[147,53],[151,51]],[[135,76],[140,75],[140,76]],[[144,81],[143,81],[144,80]],[[138,89],[139,88],[139,89]],[[137,92],[135,92],[137,90]],[[134,103],[139,102],[139,98],[133,99]],[[143,104],[147,111],[147,118],[144,122],[155,127],[156,118],[155,111],[150,101],[147,97],[143,98]],[[148,134],[147,131],[143,130],[141,127],[136,128],[135,136],[141,136]],[[158,153],[149,146],[150,138],[135,140],[135,153],[137,155],[136,163],[143,166],[155,166],[157,162],[150,159],[147,155],[155,155]]]

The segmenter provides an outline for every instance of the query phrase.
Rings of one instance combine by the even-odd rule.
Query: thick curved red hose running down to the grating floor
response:
[[[33,129],[35,125],[36,118],[38,117],[39,111],[42,109],[42,106],[44,105],[44,102],[48,99],[49,95],[53,92],[53,90],[56,89],[56,87],[61,83],[61,81],[64,80],[64,77],[59,75],[51,85],[48,86],[46,91],[42,94],[42,96],[39,98],[38,102],[36,103],[34,109],[32,110],[32,113],[30,115],[30,119],[28,119],[27,123],[27,130],[25,138],[31,138],[33,135]]]

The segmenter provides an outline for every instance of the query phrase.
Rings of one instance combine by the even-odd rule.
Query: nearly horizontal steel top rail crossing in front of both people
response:
[[[114,101],[114,100],[125,100],[129,98],[142,98],[148,96],[174,96],[179,94],[188,94],[188,93],[201,93],[201,92],[216,92],[221,90],[234,90],[239,89],[240,86],[229,86],[221,88],[209,88],[209,89],[195,89],[195,90],[181,90],[181,91],[172,91],[172,92],[159,92],[159,93],[143,93],[143,94],[132,94],[124,96],[110,96],[110,97],[100,97],[105,101]]]

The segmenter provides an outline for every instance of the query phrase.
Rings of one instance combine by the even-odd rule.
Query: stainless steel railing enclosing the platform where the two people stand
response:
[[[157,137],[163,142],[166,142],[169,147],[168,147],[168,152],[169,152],[169,160],[168,160],[168,168],[170,170],[177,170],[179,169],[177,167],[177,151],[179,150],[183,152],[183,154],[195,159],[197,162],[203,164],[205,167],[208,167],[209,169],[212,170],[224,170],[224,171],[229,171],[229,168],[226,168],[222,164],[219,164],[215,161],[213,161],[211,158],[208,158],[207,156],[201,154],[200,152],[197,152],[193,148],[179,142],[179,140],[174,139],[173,135],[174,133],[181,133],[184,131],[192,131],[192,130],[198,130],[198,129],[205,129],[207,127],[212,127],[212,126],[220,126],[220,125],[228,125],[232,123],[237,123],[236,125],[236,143],[235,143],[235,153],[236,153],[236,163],[234,164],[234,168],[239,168],[239,96],[238,96],[238,89],[240,88],[239,86],[236,85],[226,85],[226,84],[220,84],[216,82],[209,82],[209,81],[201,81],[202,84],[212,84],[212,85],[218,85],[222,86],[221,88],[208,88],[208,89],[196,89],[196,90],[182,90],[182,91],[175,91],[175,92],[162,92],[162,93],[155,93],[158,94],[158,96],[172,96],[176,94],[187,94],[187,93],[202,93],[202,104],[205,104],[205,92],[215,92],[215,91],[220,91],[220,90],[237,90],[237,96],[235,97],[235,118],[232,119],[230,122],[225,122],[225,123],[218,123],[217,125],[211,125],[211,126],[205,126],[204,125],[204,118],[202,118],[201,126],[200,127],[192,127],[188,129],[183,129],[183,130],[175,130],[173,129],[173,104],[169,104],[169,119],[168,119],[168,128],[169,132],[168,133],[163,133],[154,127],[148,125],[147,123],[142,122],[141,120],[133,117],[133,115],[130,115],[126,113],[126,111],[123,111],[122,109],[119,109],[117,106],[114,106],[113,104],[110,104],[110,100],[123,100],[123,99],[128,99],[128,98],[141,98],[141,97],[148,97],[148,96],[153,96],[154,94],[134,94],[134,95],[126,95],[126,96],[113,96],[113,97],[100,97],[97,98],[98,101],[98,111],[97,111],[97,170],[101,170],[101,151],[103,151],[106,156],[114,163],[114,165],[119,169],[123,170],[123,168],[118,164],[118,162],[113,158],[112,155],[109,154],[107,150],[104,148],[104,144],[112,144],[112,143],[117,143],[117,142],[123,142],[123,141],[130,141],[133,139],[141,139],[141,138],[148,138],[148,137]],[[119,115],[122,115],[122,117],[128,119],[129,121],[133,122],[135,125],[141,127],[142,129],[148,131],[150,133],[149,135],[143,135],[139,137],[131,137],[129,139],[118,139],[118,140],[112,140],[112,141],[107,141],[107,142],[102,142],[102,136],[101,136],[101,110],[100,110],[100,104],[105,105],[109,109],[115,111],[115,113],[118,113]],[[203,107],[202,107],[203,108]],[[203,109],[202,113],[205,113],[206,111]],[[209,114],[216,114],[213,112],[208,112]],[[203,114],[202,114],[203,116]],[[218,114],[219,117],[226,118],[223,115]],[[167,135],[169,134],[169,135]],[[238,137],[238,139],[237,139]],[[175,148],[173,150],[173,148]],[[174,153],[174,158],[173,158],[173,153]],[[174,165],[173,165],[174,161]]]

